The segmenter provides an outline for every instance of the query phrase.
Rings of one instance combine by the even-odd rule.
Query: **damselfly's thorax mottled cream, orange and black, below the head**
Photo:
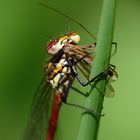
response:
[[[63,93],[69,83],[71,76],[70,68],[68,67],[65,54],[57,60],[57,62],[49,62],[45,66],[46,80],[50,83],[52,88],[59,93]]]

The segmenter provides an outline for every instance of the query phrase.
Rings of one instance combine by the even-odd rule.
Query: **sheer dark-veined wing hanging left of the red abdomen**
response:
[[[53,89],[43,78],[32,104],[31,117],[23,140],[43,140],[50,118]]]

